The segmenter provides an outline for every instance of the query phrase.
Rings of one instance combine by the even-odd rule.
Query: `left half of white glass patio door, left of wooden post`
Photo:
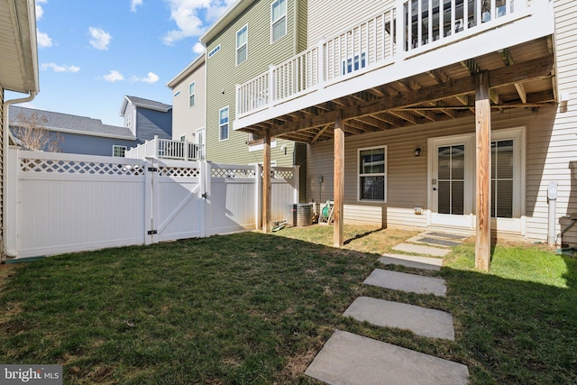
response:
[[[433,139],[429,149],[429,225],[471,228],[475,175],[472,137]]]

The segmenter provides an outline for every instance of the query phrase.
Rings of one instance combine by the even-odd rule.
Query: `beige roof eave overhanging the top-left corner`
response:
[[[39,92],[34,0],[0,2],[0,84],[16,92]]]

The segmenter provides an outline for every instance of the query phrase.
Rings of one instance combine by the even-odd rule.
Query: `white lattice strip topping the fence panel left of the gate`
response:
[[[50,172],[87,175],[144,175],[144,168],[140,164],[121,164],[77,160],[41,160],[23,158],[20,160],[20,170],[23,172]]]

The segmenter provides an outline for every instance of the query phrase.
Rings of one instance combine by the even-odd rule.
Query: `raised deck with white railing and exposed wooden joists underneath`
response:
[[[238,86],[234,129],[314,143],[334,137],[336,116],[343,119],[345,135],[352,135],[474,115],[475,79],[483,71],[489,73],[493,110],[558,101],[548,1],[525,6],[516,0],[513,10],[512,2],[492,0],[492,19],[486,22],[475,8],[480,1],[467,0],[468,11],[463,0],[444,2],[440,16],[438,1],[428,2],[436,11],[415,0],[399,1]],[[459,4],[461,14],[447,14],[447,5]],[[500,17],[499,4],[505,7]],[[459,16],[470,22],[458,23]],[[450,28],[439,36],[443,18]]]

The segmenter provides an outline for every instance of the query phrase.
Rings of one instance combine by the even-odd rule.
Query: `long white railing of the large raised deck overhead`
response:
[[[536,1],[542,0],[533,3]],[[526,14],[527,0],[398,0],[362,23],[237,85],[237,118],[487,32]]]

